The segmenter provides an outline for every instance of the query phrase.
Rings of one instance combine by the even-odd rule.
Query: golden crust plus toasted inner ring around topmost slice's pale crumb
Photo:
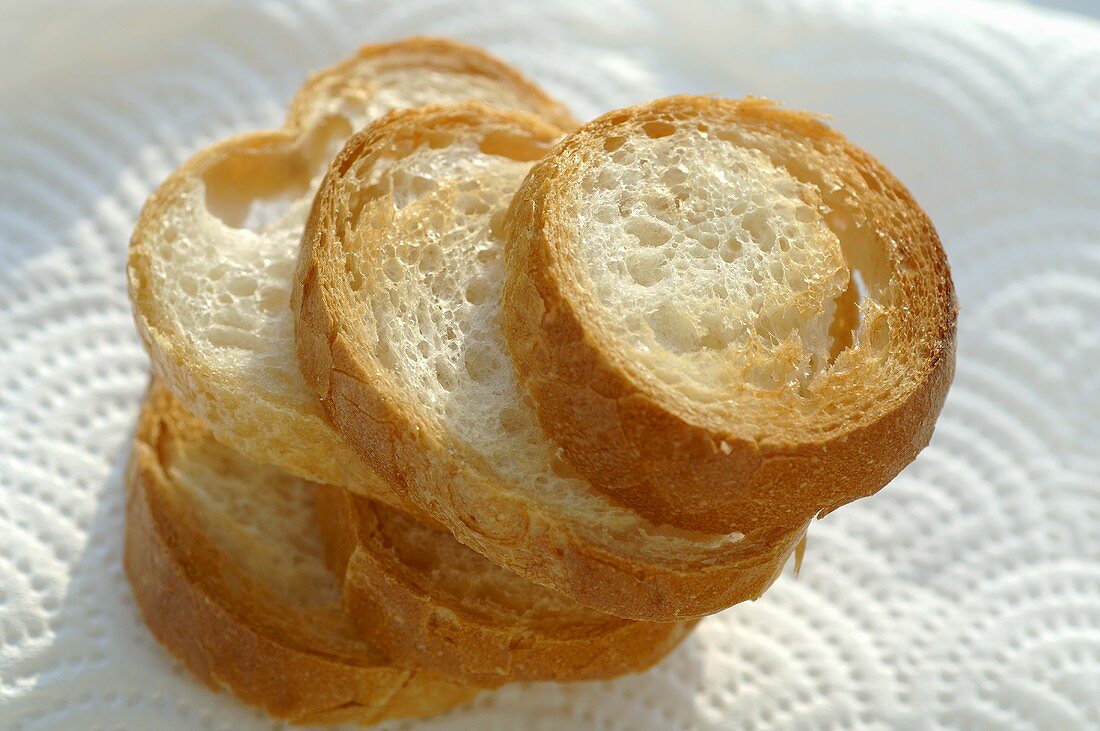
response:
[[[834,176],[843,191],[824,191],[823,198],[858,201],[835,214],[859,217],[864,231],[872,232],[869,245],[881,246],[889,291],[875,326],[857,330],[855,347],[806,397],[820,405],[815,431],[769,398],[738,402],[754,423],[730,425],[654,384],[593,318],[596,296],[578,272],[583,236],[568,221],[573,186],[606,156],[605,140],[642,134],[654,120],[781,139],[799,153],[779,164],[800,175]],[[816,118],[765,100],[708,97],[610,112],[532,168],[507,225],[504,326],[520,380],[565,458],[617,503],[686,530],[748,536],[790,530],[873,494],[927,444],[955,367],[957,303],[944,250],[909,191]],[[850,295],[838,307],[834,326],[847,324],[850,332]],[[866,355],[886,329],[891,340],[884,356]],[[888,378],[888,368],[900,377]]]

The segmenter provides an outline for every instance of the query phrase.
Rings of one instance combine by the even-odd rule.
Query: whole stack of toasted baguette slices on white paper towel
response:
[[[578,128],[448,41],[365,47],[197,154],[129,276],[134,595],[294,722],[652,665],[911,461],[954,368],[935,231],[818,119]]]

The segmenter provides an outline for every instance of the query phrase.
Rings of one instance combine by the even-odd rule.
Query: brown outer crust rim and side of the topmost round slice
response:
[[[614,337],[586,315],[591,292],[570,272],[572,242],[559,211],[556,182],[575,177],[579,151],[660,114],[785,129],[827,140],[871,169],[912,214],[921,237],[903,255],[927,265],[925,293],[936,319],[926,325],[922,372],[904,398],[855,429],[825,440],[759,443],[715,428],[713,420],[650,387],[625,363]],[[622,134],[622,132],[619,132]],[[865,191],[866,192],[866,191]],[[870,198],[871,193],[867,193]],[[882,197],[871,203],[882,206]],[[540,160],[514,198],[504,326],[521,384],[543,431],[597,489],[650,520],[688,530],[752,535],[809,521],[889,483],[928,443],[955,370],[958,304],[946,255],[932,223],[909,191],[877,160],[817,118],[761,99],[670,97],[608,112],[583,125]],[[913,251],[915,250],[915,251]],[[674,489],[673,489],[674,488]]]

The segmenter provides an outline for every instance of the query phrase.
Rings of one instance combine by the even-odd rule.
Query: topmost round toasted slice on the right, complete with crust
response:
[[[947,258],[817,118],[672,97],[605,114],[508,214],[504,326],[542,429],[616,505],[805,524],[927,444],[955,369]]]

